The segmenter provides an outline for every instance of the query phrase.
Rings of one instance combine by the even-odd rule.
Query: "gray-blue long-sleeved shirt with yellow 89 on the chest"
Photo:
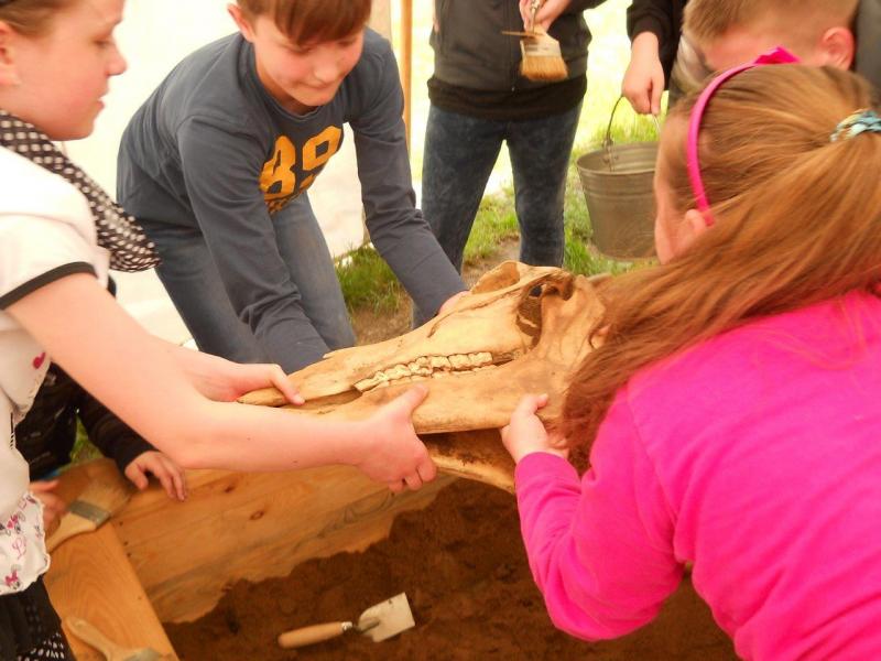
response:
[[[305,313],[273,217],[338,150],[344,122],[355,134],[370,238],[416,305],[434,313],[465,289],[414,206],[398,76],[391,46],[367,30],[361,58],[334,99],[293,115],[264,89],[253,47],[235,34],[183,59],[122,136],[119,201],[148,229],[202,231],[237,314],[282,366],[302,362],[289,356],[287,338]]]

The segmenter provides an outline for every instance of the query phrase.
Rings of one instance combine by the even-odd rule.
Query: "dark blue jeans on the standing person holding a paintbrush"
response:
[[[487,181],[508,143],[520,224],[520,261],[563,264],[566,171],[581,105],[542,119],[478,119],[432,106],[425,130],[422,212],[449,261],[463,252]]]

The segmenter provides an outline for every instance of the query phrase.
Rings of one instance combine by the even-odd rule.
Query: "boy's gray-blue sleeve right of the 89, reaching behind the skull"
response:
[[[415,207],[403,91],[388,44],[370,53],[354,87],[360,102],[350,123],[370,239],[418,308],[434,315],[467,288]]]

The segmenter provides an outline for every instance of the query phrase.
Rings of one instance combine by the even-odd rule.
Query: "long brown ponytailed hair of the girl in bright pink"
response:
[[[859,76],[802,65],[760,66],[721,86],[699,143],[716,224],[670,263],[601,291],[602,344],[574,376],[559,423],[570,444],[592,440],[645,366],[758,317],[852,290],[879,295],[881,134],[830,141],[871,96]],[[696,207],[685,161],[695,100],[672,111],[659,155],[679,210]]]

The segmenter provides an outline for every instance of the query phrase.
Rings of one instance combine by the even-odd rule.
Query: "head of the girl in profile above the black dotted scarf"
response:
[[[113,29],[123,0],[0,3],[0,108],[53,140],[85,138],[126,71]]]

